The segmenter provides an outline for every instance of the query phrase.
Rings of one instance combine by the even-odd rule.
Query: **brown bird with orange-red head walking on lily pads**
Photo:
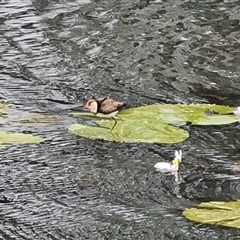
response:
[[[98,117],[112,118],[114,120],[114,125],[110,130],[110,132],[112,132],[117,124],[115,117],[124,105],[125,103],[123,102],[117,102],[111,98],[104,97],[88,100],[84,105],[84,108],[90,109],[90,111]],[[119,116],[118,118],[121,119]]]

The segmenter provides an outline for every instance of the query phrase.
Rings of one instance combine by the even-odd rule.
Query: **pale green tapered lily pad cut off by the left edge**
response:
[[[20,143],[40,143],[43,139],[32,134],[0,132],[0,145]]]

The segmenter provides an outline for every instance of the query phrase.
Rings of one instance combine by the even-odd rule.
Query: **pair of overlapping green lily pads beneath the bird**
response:
[[[108,141],[176,143],[186,139],[188,133],[168,124],[220,125],[240,121],[240,117],[232,114],[233,110],[214,104],[155,104],[121,111],[119,116],[124,120],[124,133],[117,137],[109,134],[107,129],[80,124],[70,126],[69,130],[82,137]],[[113,124],[113,121],[100,121],[90,112],[75,113],[75,116],[94,119],[101,127],[111,128]],[[118,126],[114,134],[119,131]]]

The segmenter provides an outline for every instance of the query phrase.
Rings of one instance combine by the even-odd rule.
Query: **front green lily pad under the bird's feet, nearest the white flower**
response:
[[[113,126],[114,121],[96,122],[100,127],[73,124],[69,127],[69,131],[81,137],[118,142],[177,143],[189,136],[188,132],[182,129],[156,121],[119,121],[113,134],[109,132],[109,129]]]

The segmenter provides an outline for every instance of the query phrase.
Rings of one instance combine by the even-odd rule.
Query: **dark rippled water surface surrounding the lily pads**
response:
[[[150,103],[240,105],[239,1],[0,2],[0,130],[45,142],[0,154],[0,239],[240,239],[182,217],[203,200],[240,198],[240,125],[189,127],[177,145],[77,138],[68,109],[111,94]],[[28,126],[36,112],[60,117]],[[183,147],[185,183],[153,165]]]

